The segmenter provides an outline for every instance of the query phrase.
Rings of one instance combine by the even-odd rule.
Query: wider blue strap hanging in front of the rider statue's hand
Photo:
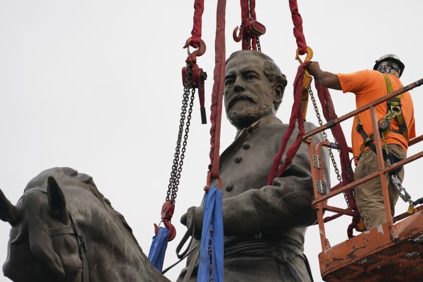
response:
[[[212,230],[213,236],[210,234]],[[209,248],[212,248],[213,282],[224,282],[222,191],[214,186],[210,186],[208,193],[205,193],[204,197],[203,226],[201,232],[197,282],[209,282]]]

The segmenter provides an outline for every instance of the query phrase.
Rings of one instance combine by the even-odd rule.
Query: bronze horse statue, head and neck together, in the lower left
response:
[[[74,169],[41,172],[16,206],[0,190],[0,219],[12,226],[3,272],[15,282],[169,281],[92,177]]]

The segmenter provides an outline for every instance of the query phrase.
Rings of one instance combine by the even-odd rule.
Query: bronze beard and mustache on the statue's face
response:
[[[257,99],[256,97],[260,97]],[[245,128],[273,113],[273,103],[266,103],[264,93],[257,96],[246,93],[234,95],[226,104],[226,116],[237,128]]]

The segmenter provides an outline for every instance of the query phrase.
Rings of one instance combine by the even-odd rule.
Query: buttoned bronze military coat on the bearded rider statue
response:
[[[221,155],[225,281],[312,281],[303,254],[307,226],[317,219],[311,207],[313,183],[307,145],[301,145],[283,175],[266,185],[287,128],[288,124],[273,114],[267,115],[239,132]],[[313,128],[312,123],[305,123],[306,132]],[[288,148],[297,132],[294,130]],[[322,140],[321,135],[315,138],[316,143]],[[327,152],[323,162],[328,168]],[[328,173],[325,180],[330,185]],[[191,248],[196,243],[194,240]],[[196,281],[198,249],[188,256],[178,282]],[[192,273],[184,279],[187,271]]]

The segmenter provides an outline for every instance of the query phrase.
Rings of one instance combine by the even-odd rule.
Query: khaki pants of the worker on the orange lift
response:
[[[388,144],[389,153],[403,160],[406,158],[402,147],[396,144]],[[385,162],[385,166],[387,166]],[[372,150],[366,150],[361,155],[356,170],[354,172],[354,180],[363,178],[379,170],[376,154]],[[392,217],[395,214],[395,203],[398,200],[399,192],[395,189],[389,176],[388,177],[388,193],[391,205]],[[404,179],[404,169],[398,173],[401,181]],[[380,177],[373,178],[356,187],[356,203],[360,215],[363,218],[364,226],[370,230],[382,223],[385,223],[385,208],[383,204],[382,185]]]

